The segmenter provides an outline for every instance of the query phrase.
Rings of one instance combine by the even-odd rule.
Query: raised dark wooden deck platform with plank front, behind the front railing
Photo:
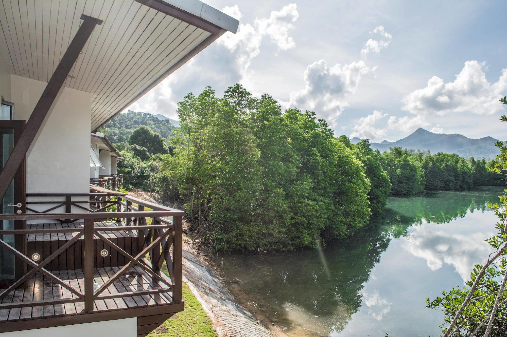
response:
[[[57,223],[57,224],[27,224],[27,229],[49,229],[49,228],[83,228],[84,224],[81,222],[76,223]],[[95,227],[116,227],[119,224],[115,221],[98,221],[95,222]],[[135,256],[139,252],[137,231],[107,231],[99,232],[106,238],[110,239],[113,243],[117,244],[120,248],[127,251],[130,255]],[[65,244],[68,240],[72,239],[78,233],[45,233],[45,234],[28,234],[26,239],[27,255],[30,257],[34,252],[41,254],[42,259],[50,256],[59,247]],[[111,266],[124,266],[127,263],[125,257],[114,249],[110,249],[104,245],[96,235],[94,240],[95,247],[95,268],[111,267]],[[110,251],[107,257],[101,257],[100,251],[106,248]],[[84,266],[82,238],[79,239],[72,247],[51,261],[48,265],[48,270],[68,270],[68,269],[81,269]]]

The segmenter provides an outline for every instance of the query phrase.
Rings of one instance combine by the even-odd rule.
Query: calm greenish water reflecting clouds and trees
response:
[[[439,335],[426,297],[463,285],[491,251],[487,208],[501,188],[390,198],[386,213],[347,242],[318,250],[218,259],[226,279],[288,335]]]

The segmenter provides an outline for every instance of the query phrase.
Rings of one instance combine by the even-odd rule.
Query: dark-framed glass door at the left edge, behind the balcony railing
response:
[[[2,101],[0,119],[0,171],[3,170],[7,159],[14,149],[24,127],[24,120],[8,120],[12,118],[12,106]],[[9,111],[9,109],[10,111]],[[24,179],[24,163],[19,167],[16,176],[12,180],[4,198],[0,201],[0,213],[16,214],[26,212],[26,193]],[[24,229],[25,221],[2,220],[0,229]],[[21,252],[26,250],[26,240],[22,235],[0,235],[0,239],[15,247]],[[12,284],[26,272],[26,265],[6,249],[0,247],[0,288]]]

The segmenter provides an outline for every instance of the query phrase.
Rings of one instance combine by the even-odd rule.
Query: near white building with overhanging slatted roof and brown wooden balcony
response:
[[[0,336],[146,335],[183,310],[184,213],[91,194],[90,132],[238,21],[198,0],[2,3]]]

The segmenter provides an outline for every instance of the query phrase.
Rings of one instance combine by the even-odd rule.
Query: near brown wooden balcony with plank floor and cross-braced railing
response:
[[[144,336],[183,310],[184,212],[108,193],[27,198],[29,213],[0,215],[26,224],[0,230],[25,270],[0,290],[0,332],[137,317]]]

